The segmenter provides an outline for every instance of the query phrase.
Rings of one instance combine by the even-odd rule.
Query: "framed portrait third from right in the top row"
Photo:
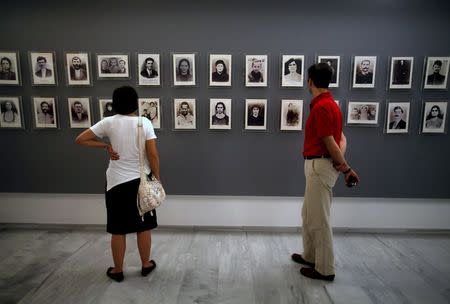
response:
[[[377,56],[355,56],[353,60],[353,88],[374,88]]]

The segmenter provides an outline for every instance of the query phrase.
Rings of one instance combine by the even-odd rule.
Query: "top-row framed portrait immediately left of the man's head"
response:
[[[281,86],[303,87],[305,56],[283,55],[281,60]]]

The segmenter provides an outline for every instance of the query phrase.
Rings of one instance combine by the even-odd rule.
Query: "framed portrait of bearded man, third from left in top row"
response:
[[[69,86],[90,86],[91,66],[88,53],[66,53],[66,77]]]

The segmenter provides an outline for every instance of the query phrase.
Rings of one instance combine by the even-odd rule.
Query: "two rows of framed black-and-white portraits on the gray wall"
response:
[[[288,53],[289,54],[289,53]],[[281,88],[302,88],[305,86],[305,56],[301,53],[280,54],[279,83]],[[293,54],[293,55],[292,55]],[[17,51],[0,51],[0,86],[21,86],[22,75],[20,56]],[[198,53],[171,53],[171,81],[174,87],[196,87]],[[52,51],[29,51],[28,70],[33,86],[57,86],[58,71],[56,53]],[[233,56],[227,53],[208,55],[208,86],[230,88],[233,78]],[[327,63],[332,68],[330,88],[341,86],[341,55],[318,55],[316,62]],[[243,66],[245,87],[267,87],[269,78],[269,56],[265,54],[244,55]],[[352,56],[351,89],[374,89],[377,77],[377,56]],[[95,54],[97,80],[129,80],[135,69],[136,83],[139,86],[159,86],[162,83],[162,57],[155,52],[135,54],[135,65],[131,69],[130,54],[123,52]],[[93,86],[91,55],[86,51],[64,52],[65,83],[71,87]],[[389,58],[388,90],[411,90],[415,83],[422,83],[423,90],[447,90],[450,57],[426,57],[423,76],[420,81],[413,79],[416,68],[413,56],[395,56]],[[242,69],[241,69],[242,70]],[[55,96],[32,96],[32,125],[36,129],[58,129],[61,117],[59,104]],[[114,115],[110,98],[97,98],[99,119]],[[27,102],[28,104],[28,102]],[[422,106],[419,133],[447,132],[447,100],[428,101]],[[339,105],[339,102],[338,102]],[[351,100],[347,103],[345,122],[348,126],[383,126],[387,134],[405,134],[410,132],[413,108],[411,101],[388,101],[385,105],[379,101]],[[19,96],[0,96],[0,128],[24,128],[23,105]],[[267,99],[245,99],[244,130],[267,130],[269,121],[269,102]],[[383,106],[383,119],[380,119],[380,106]],[[91,97],[69,97],[67,99],[71,128],[91,126],[96,118],[92,117]],[[173,130],[197,129],[197,104],[195,98],[173,99]],[[414,111],[413,111],[414,112]],[[301,131],[303,125],[303,101],[296,99],[281,100],[280,130]],[[149,118],[155,129],[162,128],[162,101],[160,98],[140,98],[139,115]],[[205,113],[206,115],[206,113]],[[417,115],[417,114],[416,114]],[[231,129],[232,100],[229,98],[211,98],[209,100],[209,129]],[[273,117],[271,118],[273,119]],[[170,119],[169,119],[170,121]]]

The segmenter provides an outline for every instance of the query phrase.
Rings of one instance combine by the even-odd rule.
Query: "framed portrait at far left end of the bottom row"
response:
[[[23,128],[20,97],[0,96],[0,128]]]

